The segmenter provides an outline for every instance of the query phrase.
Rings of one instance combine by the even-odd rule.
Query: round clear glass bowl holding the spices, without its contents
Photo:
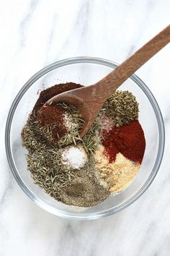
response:
[[[164,153],[164,122],[151,91],[140,78],[133,74],[120,90],[130,90],[139,102],[139,121],[146,136],[146,152],[138,175],[133,183],[118,195],[109,196],[101,204],[91,208],[64,205],[47,195],[33,183],[27,171],[22,147],[21,130],[27,116],[37,101],[37,91],[61,82],[91,85],[115,69],[117,64],[99,58],[76,57],[64,59],[41,69],[26,82],[17,94],[6,121],[6,155],[14,178],[19,186],[37,205],[57,216],[73,219],[94,219],[109,216],[128,207],[146,191],[153,182]]]

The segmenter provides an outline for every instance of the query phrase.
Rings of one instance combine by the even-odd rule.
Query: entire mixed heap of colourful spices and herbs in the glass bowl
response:
[[[146,140],[138,102],[127,90],[112,93],[82,138],[84,120],[74,106],[44,106],[54,95],[81,87],[68,82],[42,90],[21,136],[35,184],[59,202],[89,208],[133,182]]]

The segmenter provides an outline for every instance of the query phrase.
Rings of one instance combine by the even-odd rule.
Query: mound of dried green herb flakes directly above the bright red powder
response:
[[[138,120],[138,102],[128,90],[117,90],[107,99],[102,108],[116,127]]]

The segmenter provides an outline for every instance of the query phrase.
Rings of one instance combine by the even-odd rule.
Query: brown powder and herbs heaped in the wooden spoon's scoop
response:
[[[37,114],[37,126],[46,140],[66,145],[76,136],[79,137],[84,120],[79,111],[66,103],[52,103],[40,108]]]

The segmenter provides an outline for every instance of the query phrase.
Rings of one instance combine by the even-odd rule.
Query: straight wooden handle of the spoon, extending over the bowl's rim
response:
[[[135,54],[126,59],[119,67],[107,74],[106,77],[95,85],[92,85],[97,87],[97,94],[101,95],[100,92],[102,92],[102,98],[106,100],[114,90],[116,90],[123,82],[125,82],[125,80],[128,79],[128,77],[130,77],[131,74],[143,66],[146,61],[151,59],[152,56],[160,51],[161,48],[164,48],[164,46],[169,42],[170,25],[148,41],[148,43],[136,51]]]

